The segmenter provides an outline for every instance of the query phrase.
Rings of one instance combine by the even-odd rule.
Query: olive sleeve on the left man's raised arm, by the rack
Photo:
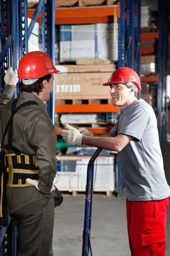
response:
[[[15,88],[9,84],[4,87],[2,93],[0,94],[0,111],[3,107],[10,101],[14,95]]]

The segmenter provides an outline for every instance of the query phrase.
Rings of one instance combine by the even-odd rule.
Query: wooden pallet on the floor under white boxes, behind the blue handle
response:
[[[77,191],[60,191],[62,196],[73,196],[73,197],[85,197],[85,192],[77,192]],[[111,197],[113,195],[112,191],[104,191],[104,192],[94,192],[93,197]]]

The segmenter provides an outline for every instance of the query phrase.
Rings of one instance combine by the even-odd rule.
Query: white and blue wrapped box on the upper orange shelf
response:
[[[118,60],[118,23],[60,26],[60,63],[77,59]]]

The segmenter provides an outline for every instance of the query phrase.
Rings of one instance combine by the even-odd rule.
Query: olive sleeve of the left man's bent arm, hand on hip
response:
[[[32,122],[28,141],[37,150],[36,167],[39,169],[38,188],[43,193],[51,191],[56,175],[57,136],[53,123],[48,115],[41,114]]]

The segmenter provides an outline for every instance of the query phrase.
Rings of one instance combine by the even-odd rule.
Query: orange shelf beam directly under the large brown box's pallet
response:
[[[113,106],[112,104],[100,104],[100,105],[56,105],[56,113],[107,113],[114,112],[120,114],[119,107]]]

